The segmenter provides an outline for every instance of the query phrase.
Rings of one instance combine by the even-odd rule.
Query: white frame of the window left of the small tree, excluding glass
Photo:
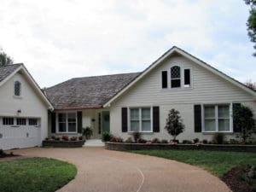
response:
[[[153,107],[152,106],[140,106],[140,107],[129,107],[128,108],[128,132],[136,132],[131,131],[131,109],[138,108],[139,109],[139,132],[142,133],[152,133],[153,132]],[[142,108],[150,108],[150,131],[143,131],[142,130]]]

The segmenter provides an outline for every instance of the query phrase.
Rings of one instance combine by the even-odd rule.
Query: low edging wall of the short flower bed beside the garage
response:
[[[84,145],[85,140],[77,141],[56,141],[56,140],[44,140],[43,147],[53,148],[80,148]]]

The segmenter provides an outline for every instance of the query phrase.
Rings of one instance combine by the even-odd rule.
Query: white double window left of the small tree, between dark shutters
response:
[[[152,132],[151,108],[130,108],[130,131]]]

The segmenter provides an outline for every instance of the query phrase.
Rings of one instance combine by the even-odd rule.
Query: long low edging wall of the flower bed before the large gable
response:
[[[108,150],[217,150],[217,151],[237,151],[256,153],[256,145],[234,145],[234,144],[170,144],[170,143],[111,143],[107,142],[105,148]]]

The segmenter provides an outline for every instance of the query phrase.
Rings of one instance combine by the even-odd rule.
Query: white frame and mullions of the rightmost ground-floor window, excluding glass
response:
[[[218,106],[219,105],[229,105],[230,108],[230,131],[218,131]],[[215,108],[215,131],[206,131],[205,129],[205,106],[214,106]],[[202,125],[202,132],[203,133],[216,133],[216,132],[222,132],[222,133],[233,133],[233,108],[232,103],[206,103],[201,105],[201,125]]]

